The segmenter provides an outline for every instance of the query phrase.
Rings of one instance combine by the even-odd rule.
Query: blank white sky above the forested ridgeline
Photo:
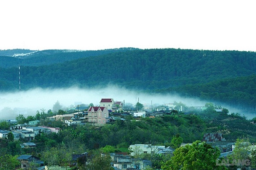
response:
[[[256,51],[254,0],[0,0],[0,49]]]

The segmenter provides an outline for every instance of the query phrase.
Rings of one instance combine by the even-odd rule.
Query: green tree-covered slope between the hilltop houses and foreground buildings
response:
[[[63,166],[72,162],[70,154],[92,153],[93,150],[107,153],[128,152],[130,144],[157,144],[178,148],[181,143],[201,141],[205,133],[222,133],[227,141],[248,138],[250,142],[255,143],[256,125],[250,124],[250,121],[239,114],[227,113],[228,110],[224,108],[223,112],[216,112],[215,107],[208,104],[204,111],[187,114],[172,112],[155,118],[134,118],[127,115],[122,120],[95,127],[89,124],[66,126],[61,121],[47,118],[56,113],[38,111],[36,116],[17,116],[17,123],[23,119],[26,122],[40,120],[40,125],[61,127],[61,131],[36,135],[31,141],[35,142],[36,147],[31,148],[20,149],[20,144],[24,142],[22,138],[15,141],[11,138],[0,139],[0,160],[13,165],[17,155],[26,154],[37,156],[46,164],[50,164],[52,156],[56,156],[54,164]],[[0,122],[0,129],[8,130],[9,127],[10,124],[6,121]],[[170,157],[146,157],[147,154],[143,156],[151,159],[153,169],[159,169],[170,160]],[[16,163],[18,166],[19,163]],[[12,169],[15,168],[5,170]]]

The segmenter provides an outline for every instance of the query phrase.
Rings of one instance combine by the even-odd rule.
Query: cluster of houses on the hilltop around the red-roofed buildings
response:
[[[77,112],[72,114],[55,115],[50,117],[52,120],[62,121],[64,124],[70,126],[71,124],[92,124],[94,126],[103,126],[120,117],[132,115],[134,117],[150,117],[163,116],[169,109],[174,109],[175,105],[168,104],[164,109],[156,107],[155,112],[148,113],[146,111],[123,112],[123,103],[121,101],[114,101],[113,98],[102,98],[99,106],[91,107],[76,107]],[[122,112],[121,112],[122,111]],[[110,116],[111,112],[111,116]]]

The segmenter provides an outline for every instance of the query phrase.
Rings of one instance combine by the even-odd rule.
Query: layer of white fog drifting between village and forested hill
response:
[[[25,117],[35,115],[36,111],[41,109],[47,112],[57,101],[66,109],[75,107],[76,104],[93,103],[94,106],[99,106],[102,98],[113,98],[114,101],[125,101],[125,104],[133,105],[139,99],[139,102],[144,106],[151,104],[159,106],[174,101],[182,102],[187,107],[204,106],[207,103],[207,101],[201,101],[197,98],[183,98],[177,94],[146,94],[118,86],[95,89],[79,89],[77,87],[67,89],[36,88],[21,92],[0,93],[0,119],[15,119],[19,114],[23,114]]]

